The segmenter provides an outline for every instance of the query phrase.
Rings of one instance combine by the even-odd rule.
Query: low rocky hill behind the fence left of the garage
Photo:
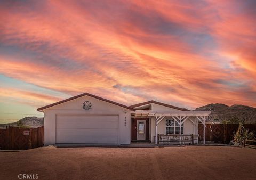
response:
[[[44,125],[44,118],[37,118],[33,116],[33,117],[23,118],[17,122],[0,124],[0,128],[5,128],[6,126],[37,128],[43,125]]]

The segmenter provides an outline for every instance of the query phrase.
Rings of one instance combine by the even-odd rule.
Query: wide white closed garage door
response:
[[[118,144],[118,116],[58,115],[56,143]]]

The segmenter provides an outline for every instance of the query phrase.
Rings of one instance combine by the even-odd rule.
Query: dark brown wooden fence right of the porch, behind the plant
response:
[[[250,131],[256,132],[256,124],[246,124],[243,125]],[[205,127],[205,140],[214,141],[215,143],[226,143],[228,144],[230,140],[233,140],[234,132],[238,129],[238,124],[213,124],[206,125]],[[199,124],[198,134],[199,141],[203,141],[204,126]]]

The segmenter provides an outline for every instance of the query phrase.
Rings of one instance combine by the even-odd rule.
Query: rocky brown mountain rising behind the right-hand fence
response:
[[[229,107],[226,104],[208,104],[196,108],[194,111],[212,111],[209,120],[215,122],[238,123],[244,121],[245,124],[256,124],[256,108],[246,105],[235,104]]]

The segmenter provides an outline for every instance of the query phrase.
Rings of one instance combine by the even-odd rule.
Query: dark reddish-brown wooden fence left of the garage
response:
[[[44,144],[44,127],[19,128],[6,127],[0,129],[1,150],[27,150],[38,148]]]

